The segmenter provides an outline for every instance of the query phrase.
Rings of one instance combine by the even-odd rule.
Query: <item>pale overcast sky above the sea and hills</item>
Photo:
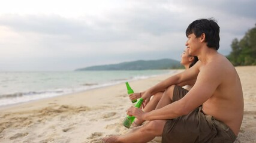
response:
[[[134,60],[180,60],[198,18],[221,27],[228,55],[256,23],[255,0],[8,0],[0,5],[0,71],[56,71]]]

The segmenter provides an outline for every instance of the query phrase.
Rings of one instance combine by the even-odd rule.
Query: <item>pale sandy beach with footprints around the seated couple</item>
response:
[[[245,112],[236,142],[256,142],[256,66],[236,67],[242,82]],[[182,70],[177,70],[180,72]],[[170,76],[129,82],[141,92]],[[0,142],[102,142],[129,132],[122,126],[132,105],[125,83],[77,94],[0,108]],[[155,138],[151,142],[161,142]]]

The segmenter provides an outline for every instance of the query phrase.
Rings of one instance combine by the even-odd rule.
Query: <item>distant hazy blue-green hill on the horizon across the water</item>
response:
[[[179,69],[182,67],[179,61],[172,59],[162,60],[138,60],[131,62],[124,62],[119,64],[108,64],[101,66],[85,67],[80,70],[159,70],[159,69]]]

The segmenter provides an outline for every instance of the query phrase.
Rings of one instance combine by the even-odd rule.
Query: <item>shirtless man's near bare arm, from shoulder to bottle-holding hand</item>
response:
[[[216,66],[203,67],[198,74],[195,85],[181,100],[149,113],[135,111],[131,114],[142,120],[174,119],[188,114],[207,101],[220,85],[221,70],[216,68]],[[137,109],[134,108],[133,110]]]

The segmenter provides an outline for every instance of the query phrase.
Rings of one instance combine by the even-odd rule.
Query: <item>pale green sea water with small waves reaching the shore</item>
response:
[[[125,84],[175,71],[0,71],[0,106]]]

